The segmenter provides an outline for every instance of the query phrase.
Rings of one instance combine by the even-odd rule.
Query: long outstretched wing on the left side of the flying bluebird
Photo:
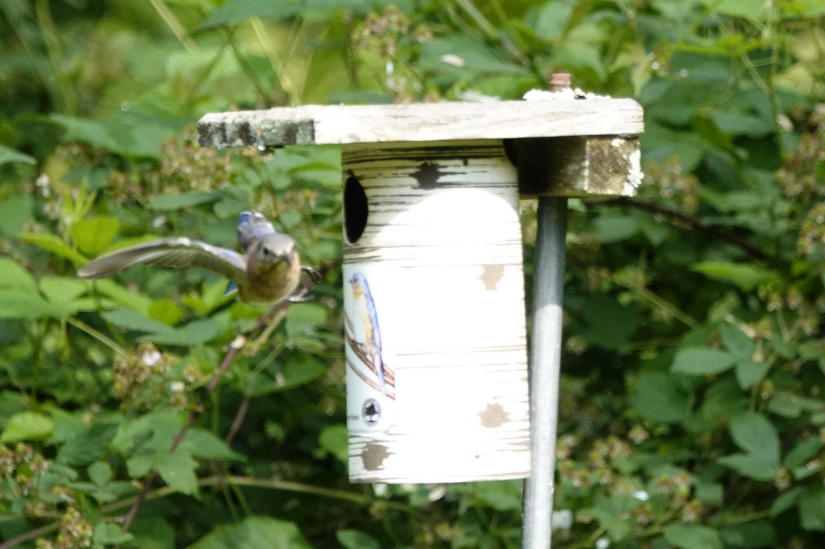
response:
[[[246,269],[246,260],[236,251],[177,237],[161,238],[113,251],[83,265],[78,275],[84,279],[101,279],[139,263],[177,268],[200,267],[233,280],[243,279]]]

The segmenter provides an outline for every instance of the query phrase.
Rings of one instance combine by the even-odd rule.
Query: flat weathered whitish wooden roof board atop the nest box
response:
[[[632,99],[306,105],[212,113],[198,122],[201,147],[422,142],[643,132]]]

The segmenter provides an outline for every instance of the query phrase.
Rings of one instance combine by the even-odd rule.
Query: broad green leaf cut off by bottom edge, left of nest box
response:
[[[294,523],[270,517],[247,517],[214,529],[188,549],[312,549]]]

